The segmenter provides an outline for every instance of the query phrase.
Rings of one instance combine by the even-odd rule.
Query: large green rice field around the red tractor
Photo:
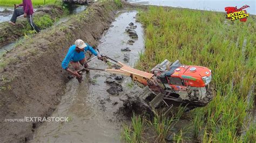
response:
[[[137,68],[150,71],[165,59],[210,68],[214,99],[204,108],[190,111],[192,140],[255,142],[256,125],[251,117],[256,71],[255,17],[248,17],[245,23],[225,17],[223,12],[156,6],[140,11],[138,19],[145,26],[146,49]],[[171,133],[166,128],[179,119],[141,118],[134,116],[131,125],[124,126],[126,142],[165,142],[166,132]],[[153,130],[151,139],[142,137],[146,126]],[[184,131],[179,132],[174,135],[175,142],[191,140]]]

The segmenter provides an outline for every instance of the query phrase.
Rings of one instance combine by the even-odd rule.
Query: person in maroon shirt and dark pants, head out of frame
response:
[[[21,4],[15,4],[14,13],[12,14],[11,21],[9,23],[15,25],[17,17],[23,14],[24,18],[28,20],[33,30],[35,30],[36,32],[40,32],[40,29],[36,26],[32,19],[33,6],[31,0],[23,0]]]

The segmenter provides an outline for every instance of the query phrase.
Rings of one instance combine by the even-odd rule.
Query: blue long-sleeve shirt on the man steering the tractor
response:
[[[87,50],[89,50],[92,54],[94,54],[96,56],[98,55],[97,52],[89,44],[86,43],[86,45],[87,46],[84,47],[84,51],[79,52],[79,53],[76,51],[76,45],[72,45],[69,48],[69,52],[68,52],[68,54],[66,54],[65,59],[62,61],[62,68],[63,69],[68,68],[70,61],[78,62],[80,60],[83,60],[85,58],[85,52]]]

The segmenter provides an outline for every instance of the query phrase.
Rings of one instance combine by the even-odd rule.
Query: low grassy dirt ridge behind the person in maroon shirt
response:
[[[54,20],[57,17],[63,15],[64,10],[61,6],[58,5],[48,5],[42,8],[38,8],[37,11],[33,14],[33,20],[35,17],[42,17],[45,14],[50,15],[51,19]],[[16,25],[11,25],[8,22],[0,23],[0,47],[6,45],[12,41],[15,41],[17,38],[24,35],[23,29],[28,26],[26,18],[20,17],[17,18]]]

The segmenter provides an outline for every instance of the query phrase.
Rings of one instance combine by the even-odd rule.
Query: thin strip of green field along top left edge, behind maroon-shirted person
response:
[[[44,5],[44,4],[51,4],[55,3],[58,0],[33,0],[32,4],[35,5]],[[0,6],[13,6],[14,4],[21,4],[22,0],[0,0]]]

